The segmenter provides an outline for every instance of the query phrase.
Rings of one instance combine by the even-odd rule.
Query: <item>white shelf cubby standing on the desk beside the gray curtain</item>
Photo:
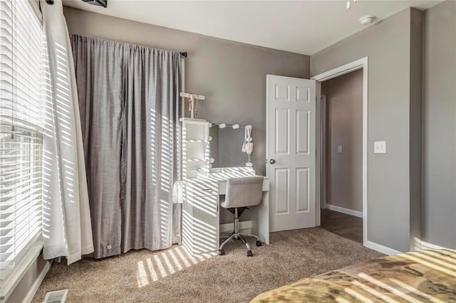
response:
[[[209,122],[202,119],[181,119],[182,179],[209,174]]]

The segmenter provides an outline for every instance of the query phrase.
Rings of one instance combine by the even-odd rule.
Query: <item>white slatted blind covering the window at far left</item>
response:
[[[41,236],[43,29],[27,0],[0,0],[0,280]]]

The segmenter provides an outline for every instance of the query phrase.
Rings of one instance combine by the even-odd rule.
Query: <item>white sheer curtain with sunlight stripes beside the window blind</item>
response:
[[[93,252],[78,92],[61,0],[40,0],[46,34],[43,255],[68,264]]]

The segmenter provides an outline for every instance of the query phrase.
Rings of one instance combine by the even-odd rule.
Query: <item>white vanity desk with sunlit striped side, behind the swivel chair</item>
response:
[[[219,195],[227,191],[227,180],[252,176],[232,171],[185,180],[182,206],[182,244],[192,255],[207,255],[219,249]],[[263,181],[263,198],[251,208],[252,233],[269,244],[269,180]]]

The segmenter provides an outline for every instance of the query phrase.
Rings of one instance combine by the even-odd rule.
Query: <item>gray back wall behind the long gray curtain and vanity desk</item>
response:
[[[207,97],[199,103],[199,117],[209,122],[252,124],[254,169],[265,174],[266,74],[309,78],[309,56],[69,7],[63,14],[71,33],[187,51],[185,90]]]

